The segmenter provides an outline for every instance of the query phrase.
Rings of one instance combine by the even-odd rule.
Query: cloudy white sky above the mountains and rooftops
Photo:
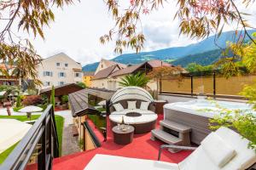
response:
[[[99,37],[108,33],[114,23],[103,0],[81,0],[63,9],[54,8],[53,11],[55,22],[44,28],[45,40],[41,37],[32,39],[43,58],[63,52],[86,65],[118,55],[113,53],[114,42],[104,45],[99,42]],[[170,1],[165,3],[164,8],[143,15],[143,33],[146,37],[143,51],[185,46],[199,41],[178,36],[178,20],[173,20],[176,11],[176,1]],[[248,20],[255,24],[256,4],[246,11],[254,14],[248,16]],[[232,29],[232,26],[224,28],[225,31]],[[127,49],[124,54],[133,52]]]

